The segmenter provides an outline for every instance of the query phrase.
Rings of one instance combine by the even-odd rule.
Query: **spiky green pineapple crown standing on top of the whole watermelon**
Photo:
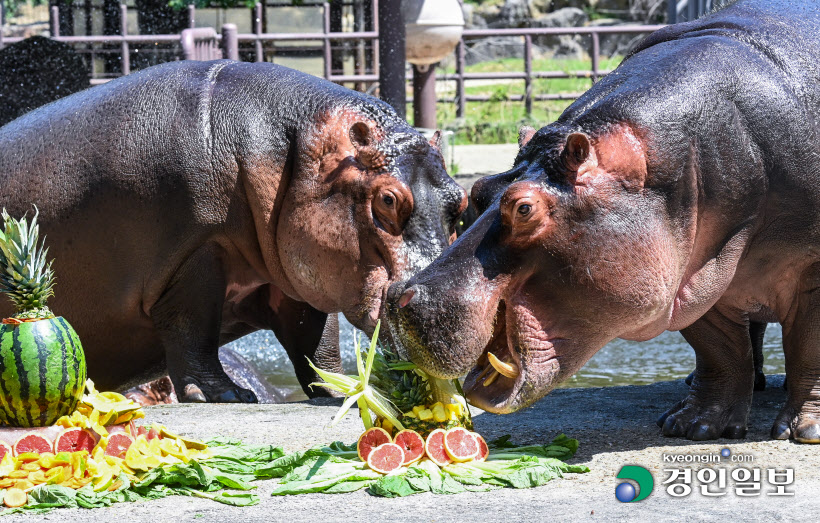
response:
[[[5,292],[18,313],[33,309],[50,311],[46,300],[54,295],[54,270],[46,262],[48,249],[45,239],[38,247],[40,227],[39,210],[34,207],[34,218],[29,224],[26,217],[15,220],[3,209],[3,230],[0,231],[0,292]]]

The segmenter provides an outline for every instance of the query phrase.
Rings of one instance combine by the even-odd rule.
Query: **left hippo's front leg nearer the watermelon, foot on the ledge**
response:
[[[151,308],[180,402],[256,402],[254,393],[237,387],[219,362],[225,297],[220,249],[206,245],[194,252]]]

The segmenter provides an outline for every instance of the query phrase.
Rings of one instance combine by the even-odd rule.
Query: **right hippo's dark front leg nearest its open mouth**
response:
[[[689,396],[658,420],[665,436],[742,438],[754,385],[748,327],[710,309],[681,331],[695,349]]]

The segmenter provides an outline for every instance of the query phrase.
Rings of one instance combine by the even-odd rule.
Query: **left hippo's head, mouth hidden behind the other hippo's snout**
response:
[[[432,262],[467,206],[438,133],[428,142],[385,112],[335,110],[299,137],[276,229],[291,293],[368,333],[389,284]]]

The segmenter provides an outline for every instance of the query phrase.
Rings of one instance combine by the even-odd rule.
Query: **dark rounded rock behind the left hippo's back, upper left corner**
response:
[[[85,61],[42,36],[0,50],[0,125],[90,85]]]

